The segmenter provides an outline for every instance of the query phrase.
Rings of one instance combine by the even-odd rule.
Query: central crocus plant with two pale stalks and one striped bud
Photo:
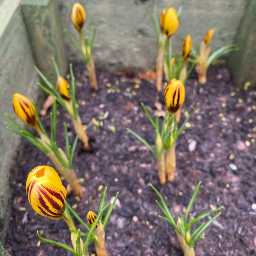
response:
[[[175,112],[180,108],[185,100],[185,87],[181,81],[173,79],[170,81],[165,90],[165,102],[167,111],[163,119],[162,128],[159,129],[159,117],[156,114],[156,121],[152,119],[149,111],[142,103],[142,107],[147,115],[148,120],[155,128],[155,151],[151,145],[143,139],[139,134],[127,128],[127,130],[143,142],[150,151],[154,154],[158,164],[158,177],[160,184],[166,183],[166,174],[169,181],[174,180],[174,170],[176,167],[175,157],[175,143],[181,132],[189,127],[185,127],[190,117],[194,114],[198,105],[193,112],[187,117],[181,128],[178,130],[178,123],[176,121]],[[165,158],[166,149],[166,158]]]

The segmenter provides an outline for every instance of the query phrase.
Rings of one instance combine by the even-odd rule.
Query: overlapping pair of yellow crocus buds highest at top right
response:
[[[162,32],[170,37],[179,27],[179,19],[176,10],[171,7],[168,10],[162,10],[159,20]]]

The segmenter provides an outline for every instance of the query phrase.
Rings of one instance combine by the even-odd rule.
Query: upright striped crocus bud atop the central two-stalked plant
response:
[[[165,88],[165,103],[169,113],[175,113],[185,100],[185,87],[180,80],[172,79]]]

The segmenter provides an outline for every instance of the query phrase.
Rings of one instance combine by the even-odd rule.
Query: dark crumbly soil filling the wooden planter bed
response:
[[[74,68],[79,85],[76,86],[76,95],[82,122],[87,124],[91,150],[83,151],[79,142],[73,166],[77,176],[85,179],[82,185],[86,191],[80,201],[72,195],[67,197],[67,201],[71,205],[77,204],[77,213],[86,221],[89,210],[97,212],[105,186],[108,186],[107,203],[119,191],[119,204],[106,228],[109,255],[183,255],[173,227],[158,217],[162,214],[155,202],[158,197],[148,183],[160,190],[177,219],[177,210],[186,211],[199,181],[202,185],[190,217],[209,211],[214,206],[223,205],[224,209],[205,231],[205,238],[197,242],[196,255],[256,255],[255,90],[249,87],[244,92],[236,91],[228,70],[223,67],[210,68],[208,82],[204,85],[197,85],[196,75],[191,75],[186,85],[183,110],[190,113],[196,103],[200,103],[189,121],[194,128],[183,132],[177,140],[174,182],[160,186],[153,154],[126,130],[128,127],[138,132],[154,145],[154,128],[145,116],[141,102],[152,108],[154,117],[158,98],[155,82],[134,81],[134,77],[126,74],[114,75],[97,70],[99,90],[94,94],[89,82],[84,79],[83,70],[84,67]],[[120,92],[106,93],[109,89],[106,83],[115,85],[118,84],[116,81],[119,81]],[[137,83],[139,88],[135,86]],[[132,94],[129,90],[136,93]],[[164,105],[163,92],[159,101]],[[64,149],[62,123],[70,123],[70,141],[74,140],[74,130],[63,108],[58,110],[57,143]],[[91,119],[95,117],[99,120],[101,112],[106,111],[109,115],[102,120],[103,126],[95,129]],[[48,131],[50,112],[51,109],[42,120]],[[184,120],[183,112],[181,123]],[[115,127],[115,133],[110,126]],[[189,150],[191,141],[197,144],[196,148]],[[38,148],[26,143],[14,184],[12,216],[5,248],[13,256],[70,255],[43,241],[37,246],[37,230],[44,230],[45,238],[71,245],[69,229],[62,220],[35,214],[29,205],[25,194],[26,178],[28,172],[38,165],[51,166],[52,163]],[[101,185],[103,188],[100,190]],[[21,207],[26,210],[21,211]],[[91,245],[90,253],[94,252],[94,245]]]

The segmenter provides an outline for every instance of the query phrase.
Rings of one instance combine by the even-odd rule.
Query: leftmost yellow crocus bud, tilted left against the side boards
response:
[[[13,95],[13,109],[15,114],[23,120],[26,125],[37,126],[37,114],[33,103],[25,96],[15,93]]]

